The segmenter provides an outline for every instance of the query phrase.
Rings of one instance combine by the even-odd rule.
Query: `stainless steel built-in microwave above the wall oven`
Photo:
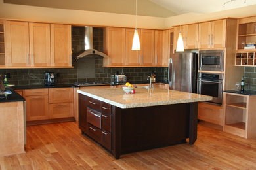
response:
[[[199,70],[224,71],[224,50],[199,51]]]

